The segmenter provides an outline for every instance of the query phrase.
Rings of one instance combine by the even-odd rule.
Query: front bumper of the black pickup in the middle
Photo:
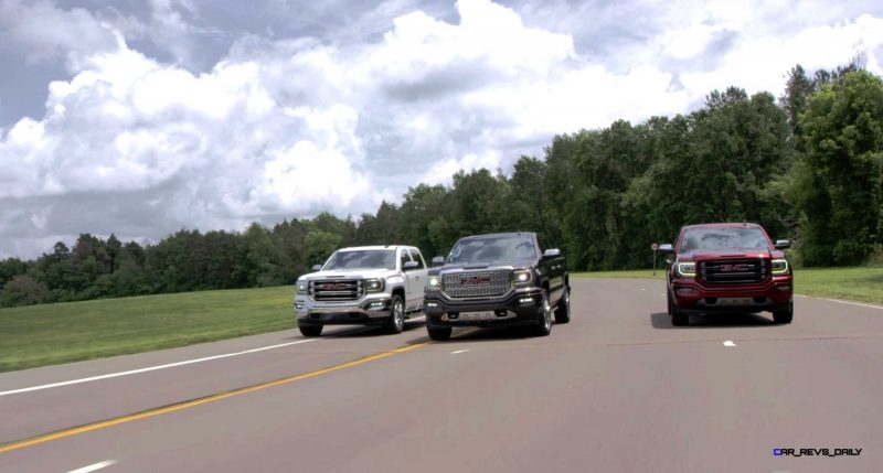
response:
[[[426,323],[434,326],[513,326],[536,324],[543,291],[519,288],[494,298],[451,299],[442,292],[424,294]],[[493,316],[489,319],[489,312]],[[487,315],[486,315],[487,314]]]

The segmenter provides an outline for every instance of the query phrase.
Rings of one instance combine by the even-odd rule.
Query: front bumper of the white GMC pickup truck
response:
[[[295,299],[295,315],[300,325],[382,325],[390,319],[392,298],[376,294],[351,302],[318,302],[309,297]]]

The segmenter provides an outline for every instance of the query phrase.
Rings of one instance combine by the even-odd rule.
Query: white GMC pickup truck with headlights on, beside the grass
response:
[[[341,248],[297,280],[295,315],[305,336],[325,325],[381,325],[400,333],[422,315],[426,262],[413,246]]]

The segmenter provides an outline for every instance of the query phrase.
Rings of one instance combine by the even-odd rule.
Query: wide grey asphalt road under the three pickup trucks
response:
[[[0,472],[881,471],[883,308],[795,305],[673,327],[660,282],[579,279],[549,337],[417,322],[7,373]]]

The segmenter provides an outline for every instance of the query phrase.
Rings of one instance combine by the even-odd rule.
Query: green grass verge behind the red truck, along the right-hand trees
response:
[[[577,278],[652,279],[652,270],[576,272]],[[656,279],[666,278],[657,270]],[[883,267],[795,269],[795,292],[817,298],[883,303]]]

